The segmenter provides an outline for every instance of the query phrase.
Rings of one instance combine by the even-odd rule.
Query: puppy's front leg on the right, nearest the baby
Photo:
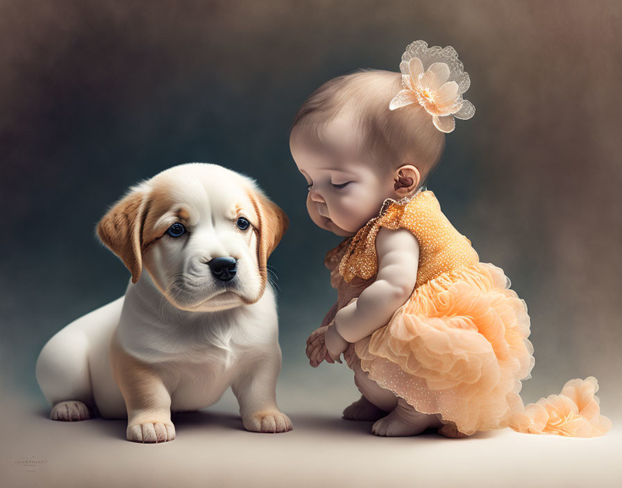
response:
[[[253,361],[231,385],[246,430],[265,433],[292,430],[292,421],[276,404],[279,372],[280,351]]]

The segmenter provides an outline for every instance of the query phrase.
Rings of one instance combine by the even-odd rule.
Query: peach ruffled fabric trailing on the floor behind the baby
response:
[[[596,392],[598,380],[594,376],[567,381],[560,394],[541,398],[512,414],[510,427],[516,432],[530,434],[603,435],[612,424],[610,419],[600,415]]]

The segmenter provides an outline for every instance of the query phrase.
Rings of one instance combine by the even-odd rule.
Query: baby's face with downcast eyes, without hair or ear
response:
[[[392,175],[381,175],[358,155],[351,127],[331,122],[336,144],[312,148],[292,139],[289,147],[308,185],[307,210],[314,223],[337,236],[353,236],[394,196]]]

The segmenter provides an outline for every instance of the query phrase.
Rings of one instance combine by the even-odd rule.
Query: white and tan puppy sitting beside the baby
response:
[[[53,420],[127,418],[127,438],[175,438],[171,410],[230,386],[246,430],[292,429],[276,404],[281,351],[267,259],[287,229],[251,178],[181,164],[129,189],[96,227],[126,294],[56,333],[37,360]]]

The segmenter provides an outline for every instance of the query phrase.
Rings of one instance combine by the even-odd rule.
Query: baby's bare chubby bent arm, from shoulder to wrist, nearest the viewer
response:
[[[419,243],[408,229],[380,228],[376,252],[376,281],[335,315],[335,329],[348,342],[357,342],[385,326],[417,282]]]

